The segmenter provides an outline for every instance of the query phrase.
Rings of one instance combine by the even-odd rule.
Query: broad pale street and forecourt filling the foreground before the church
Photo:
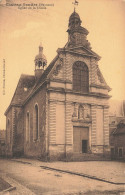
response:
[[[115,185],[108,182],[98,181],[97,179],[89,179],[87,177],[81,177],[78,175],[68,174],[55,170],[47,170],[40,167],[56,167],[61,170],[70,170],[73,172],[82,171],[82,173],[89,175],[91,174],[93,176],[95,176],[94,173],[96,173],[96,177],[102,178],[100,173],[100,167],[102,165],[101,163],[104,165],[106,164],[106,162],[45,163],[38,160],[29,159],[0,159],[0,177],[4,178],[4,180],[9,182],[12,186],[16,187],[16,190],[8,192],[8,194],[13,195],[125,194],[123,184]],[[96,165],[99,165],[99,168]],[[103,171],[105,170],[104,165],[102,167]],[[84,167],[83,170],[82,167]],[[107,176],[103,177],[106,181],[109,180],[117,183],[125,183],[124,163],[108,162],[106,164],[106,169],[108,170],[109,174],[113,174],[114,172],[114,176],[108,176],[107,172]],[[112,170],[111,172],[109,171],[110,169]],[[99,171],[97,172],[97,170]],[[103,172],[102,174],[104,175]],[[114,180],[112,179],[113,177]]]

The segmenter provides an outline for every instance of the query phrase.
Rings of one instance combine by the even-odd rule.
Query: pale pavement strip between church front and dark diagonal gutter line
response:
[[[34,159],[12,159],[17,162],[44,166],[45,168],[59,169],[87,175],[95,179],[103,179],[113,183],[125,184],[125,163],[115,161],[86,161],[86,162],[42,162]]]

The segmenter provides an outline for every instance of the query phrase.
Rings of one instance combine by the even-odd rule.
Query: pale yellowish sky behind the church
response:
[[[5,129],[4,112],[10,104],[21,74],[34,74],[34,58],[40,42],[48,65],[56,50],[68,40],[68,20],[73,0],[0,1],[0,129]],[[18,9],[10,4],[52,4]],[[37,9],[37,7],[39,9]],[[33,8],[33,7],[32,7]],[[125,0],[79,0],[76,12],[89,31],[92,50],[101,56],[99,67],[113,99],[125,99]],[[5,59],[5,95],[3,94]]]

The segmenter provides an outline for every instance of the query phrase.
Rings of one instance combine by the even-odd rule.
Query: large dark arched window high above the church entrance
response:
[[[89,71],[84,62],[77,61],[73,65],[73,90],[88,93]]]

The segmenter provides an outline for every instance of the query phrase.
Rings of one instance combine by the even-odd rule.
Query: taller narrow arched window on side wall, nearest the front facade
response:
[[[39,134],[39,110],[38,110],[38,105],[35,105],[35,121],[34,121],[34,140],[38,140],[38,134]]]

